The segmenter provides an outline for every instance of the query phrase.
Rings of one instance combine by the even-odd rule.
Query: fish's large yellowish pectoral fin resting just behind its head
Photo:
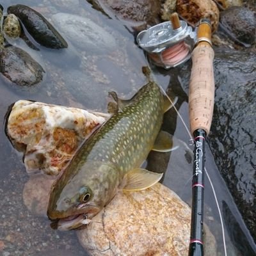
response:
[[[125,186],[123,189],[126,191],[139,191],[150,188],[159,182],[162,177],[163,173],[150,172],[145,169],[136,168],[125,175]]]

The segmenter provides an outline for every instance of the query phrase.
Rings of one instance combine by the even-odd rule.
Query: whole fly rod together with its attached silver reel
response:
[[[209,134],[214,106],[214,51],[211,47],[211,24],[209,20],[203,19],[194,32],[184,20],[179,20],[177,13],[173,13],[170,21],[141,31],[137,36],[137,42],[147,52],[148,60],[158,67],[174,68],[192,56],[189,120],[195,149],[189,256],[203,256],[205,137]],[[179,115],[178,111],[177,114]],[[181,116],[180,119],[182,120]],[[186,127],[186,124],[184,125]],[[191,134],[189,133],[190,136]],[[216,204],[218,205],[217,200]],[[223,241],[225,243],[224,235]]]

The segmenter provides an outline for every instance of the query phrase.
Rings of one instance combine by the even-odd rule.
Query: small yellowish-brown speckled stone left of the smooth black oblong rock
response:
[[[7,15],[7,17],[4,19],[3,28],[4,34],[8,37],[17,38],[20,36],[20,22],[14,14]]]

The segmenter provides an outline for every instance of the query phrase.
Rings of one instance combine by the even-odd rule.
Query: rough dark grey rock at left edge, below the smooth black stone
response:
[[[43,79],[44,69],[20,48],[11,46],[0,51],[0,71],[15,84],[31,86]]]

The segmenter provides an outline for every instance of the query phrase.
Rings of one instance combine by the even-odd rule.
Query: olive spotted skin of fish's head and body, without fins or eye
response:
[[[149,81],[126,100],[118,113],[81,145],[52,187],[51,220],[86,213],[94,216],[115,196],[125,173],[140,167],[154,145],[164,114],[164,96]],[[87,208],[79,205],[80,188],[90,188]]]

